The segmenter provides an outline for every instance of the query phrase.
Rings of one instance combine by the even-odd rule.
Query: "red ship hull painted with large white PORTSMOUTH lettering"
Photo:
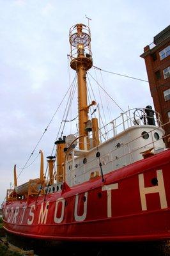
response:
[[[69,188],[3,204],[4,229],[58,241],[170,239],[170,150]]]

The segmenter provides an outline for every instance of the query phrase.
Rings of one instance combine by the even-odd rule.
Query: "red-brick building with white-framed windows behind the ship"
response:
[[[155,111],[163,124],[170,121],[170,25],[154,36],[153,43],[144,47],[144,58]],[[164,126],[167,147],[170,147],[170,123]]]

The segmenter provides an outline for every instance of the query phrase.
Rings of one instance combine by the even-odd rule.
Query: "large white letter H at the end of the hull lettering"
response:
[[[139,191],[140,191],[140,196],[141,196],[142,210],[143,211],[147,210],[145,195],[151,194],[151,193],[159,193],[160,207],[161,207],[161,209],[166,209],[167,208],[167,200],[166,200],[166,191],[165,191],[165,186],[164,186],[164,177],[162,174],[162,170],[157,171],[157,180],[158,180],[157,186],[145,188],[143,173],[139,174],[138,176],[139,176]]]

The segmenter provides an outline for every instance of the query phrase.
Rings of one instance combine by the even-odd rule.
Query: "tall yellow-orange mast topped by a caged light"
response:
[[[78,112],[79,112],[79,148],[89,149],[89,136],[86,124],[88,122],[88,106],[86,72],[93,65],[91,54],[91,34],[88,26],[76,24],[70,29],[70,67],[77,72],[78,80]]]

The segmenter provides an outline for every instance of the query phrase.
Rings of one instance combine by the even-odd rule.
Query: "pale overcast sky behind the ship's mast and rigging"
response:
[[[88,24],[88,15],[93,65],[147,80],[139,55],[169,25],[169,10],[168,0],[0,0],[0,203],[13,184],[13,165],[24,166],[68,90],[69,73],[71,81],[75,75],[68,72],[70,27]],[[105,90],[122,109],[153,106],[148,83],[90,72],[98,81],[103,78]],[[96,90],[93,80],[91,86]],[[116,118],[120,109],[106,101]],[[69,118],[77,115],[76,108]],[[51,154],[64,110],[59,109],[28,164],[40,149],[45,159]],[[68,134],[72,129],[66,126]],[[38,177],[39,170],[40,157],[22,172],[19,184]]]

